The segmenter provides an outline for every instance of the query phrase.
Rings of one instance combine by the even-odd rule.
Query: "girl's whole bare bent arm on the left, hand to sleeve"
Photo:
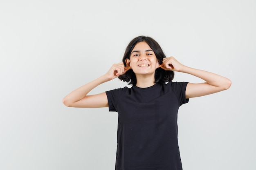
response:
[[[63,104],[68,107],[78,108],[100,108],[108,107],[108,98],[105,92],[96,95],[87,95],[92,89],[99,86],[104,82],[108,82],[119,75],[126,73],[124,64],[113,64],[109,71],[101,77],[85,84],[76,90],[72,91],[66,97],[63,98]]]

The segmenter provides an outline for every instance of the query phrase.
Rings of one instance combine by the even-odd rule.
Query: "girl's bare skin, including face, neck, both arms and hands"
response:
[[[148,64],[148,65],[147,65]],[[126,67],[123,62],[113,64],[108,72],[101,77],[85,84],[72,91],[63,98],[63,104],[69,107],[100,108],[108,107],[108,98],[105,92],[96,95],[87,95],[93,88],[104,82],[115,79],[119,75],[132,69],[136,75],[136,86],[146,88],[153,86],[155,69],[158,67],[164,70],[178,71],[194,75],[203,79],[204,83],[188,83],[186,86],[186,98],[200,97],[227,90],[231,86],[231,81],[215,73],[198,70],[184,66],[174,57],[166,57],[163,64],[159,65],[154,51],[146,42],[139,42],[135,45],[130,55],[130,60],[126,59]]]

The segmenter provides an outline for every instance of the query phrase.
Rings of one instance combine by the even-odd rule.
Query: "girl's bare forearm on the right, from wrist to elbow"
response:
[[[182,66],[180,72],[188,73],[199,77],[206,81],[208,84],[216,87],[221,87],[223,88],[223,90],[228,89],[231,85],[231,81],[226,77],[222,77],[221,75],[217,75],[208,71],[198,70],[188,66]]]

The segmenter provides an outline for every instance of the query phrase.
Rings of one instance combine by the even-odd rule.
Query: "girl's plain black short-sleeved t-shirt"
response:
[[[107,91],[118,112],[116,170],[182,170],[177,112],[189,102],[186,82]]]

